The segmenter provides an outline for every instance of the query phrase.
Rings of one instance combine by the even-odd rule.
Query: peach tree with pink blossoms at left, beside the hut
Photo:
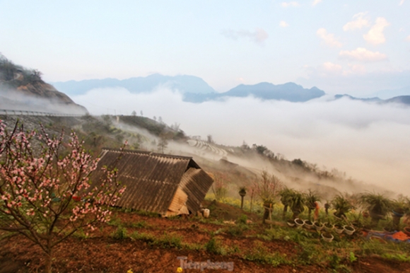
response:
[[[10,131],[0,120],[0,230],[39,245],[45,272],[52,270],[54,246],[80,228],[88,232],[108,221],[124,191],[115,168],[103,167],[104,179],[93,186],[97,166],[74,132],[65,142],[64,132],[25,132],[19,122]]]

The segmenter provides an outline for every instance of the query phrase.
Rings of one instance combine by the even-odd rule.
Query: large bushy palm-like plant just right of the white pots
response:
[[[388,199],[383,194],[374,192],[364,193],[360,199],[361,203],[369,210],[373,226],[377,226],[380,219],[385,218],[386,214],[392,210],[394,204],[391,199]]]

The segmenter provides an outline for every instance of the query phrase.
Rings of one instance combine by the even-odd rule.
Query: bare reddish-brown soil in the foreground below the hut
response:
[[[189,219],[162,219],[136,213],[118,212],[117,222],[127,227],[127,232],[150,234],[156,238],[172,234],[182,238],[182,242],[204,245],[220,225],[201,223]],[[139,226],[131,223],[141,223]],[[231,262],[233,271],[228,269],[204,269],[203,272],[332,272],[326,265],[263,265],[242,259],[240,255],[213,255],[206,250],[160,248],[141,240],[125,238],[115,240],[110,237],[117,226],[104,224],[89,238],[74,236],[57,245],[54,251],[53,272],[177,272],[178,257],[187,257],[192,262]],[[256,230],[256,231],[255,231]],[[248,237],[257,232],[252,228],[245,236],[218,234],[224,245],[236,245],[241,250],[253,248],[260,242],[272,252],[280,252],[286,257],[298,255],[298,245],[285,240],[260,240]],[[10,236],[0,241],[0,273],[42,272],[44,265],[42,250],[23,236]],[[184,269],[183,272],[201,272],[200,269]],[[359,257],[353,264],[353,272],[410,272],[408,263],[381,260],[378,257]]]

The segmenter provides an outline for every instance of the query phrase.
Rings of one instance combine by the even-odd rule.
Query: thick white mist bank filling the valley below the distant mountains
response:
[[[201,104],[182,101],[165,88],[132,94],[102,88],[72,98],[93,115],[162,117],[180,123],[189,136],[211,134],[217,144],[264,145],[289,160],[300,158],[319,168],[337,168],[347,177],[410,194],[410,108],[343,98],[289,103],[229,98]],[[368,189],[372,190],[372,189]]]

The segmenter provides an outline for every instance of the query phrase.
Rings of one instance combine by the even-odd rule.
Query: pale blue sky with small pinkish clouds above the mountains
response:
[[[410,0],[0,0],[0,52],[46,81],[187,74],[410,94]],[[409,88],[407,88],[409,87]]]

